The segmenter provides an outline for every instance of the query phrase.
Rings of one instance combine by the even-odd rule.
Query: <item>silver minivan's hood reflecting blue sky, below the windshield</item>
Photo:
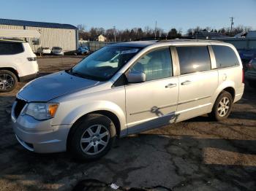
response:
[[[25,85],[18,96],[26,101],[49,101],[61,95],[94,87],[99,81],[84,79],[60,71],[45,77],[34,79]]]

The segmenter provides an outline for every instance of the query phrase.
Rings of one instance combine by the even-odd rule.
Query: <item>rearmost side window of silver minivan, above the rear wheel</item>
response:
[[[217,68],[222,69],[230,66],[239,66],[236,53],[227,46],[212,45],[217,63]]]

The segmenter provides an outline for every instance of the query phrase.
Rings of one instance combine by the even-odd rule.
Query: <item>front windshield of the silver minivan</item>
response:
[[[139,50],[138,47],[103,47],[80,61],[69,73],[105,81],[113,77]]]

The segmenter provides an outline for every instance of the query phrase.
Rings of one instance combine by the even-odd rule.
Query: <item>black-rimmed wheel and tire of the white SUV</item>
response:
[[[18,79],[12,71],[0,70],[0,93],[10,92],[17,86]]]

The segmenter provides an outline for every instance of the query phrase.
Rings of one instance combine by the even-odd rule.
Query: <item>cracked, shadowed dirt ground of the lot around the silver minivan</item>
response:
[[[80,59],[39,58],[40,75]],[[18,89],[0,95],[0,190],[72,190],[83,179],[153,190],[256,190],[256,90],[248,86],[227,120],[202,116],[128,136],[91,163],[20,146],[10,122]]]

